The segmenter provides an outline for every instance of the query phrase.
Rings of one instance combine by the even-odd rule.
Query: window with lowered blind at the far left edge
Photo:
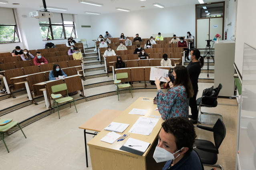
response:
[[[20,42],[12,8],[0,7],[0,43]]]

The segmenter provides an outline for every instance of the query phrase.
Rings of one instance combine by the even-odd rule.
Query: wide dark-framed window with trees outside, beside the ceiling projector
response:
[[[72,14],[53,13],[52,18],[39,18],[43,40],[77,38]]]

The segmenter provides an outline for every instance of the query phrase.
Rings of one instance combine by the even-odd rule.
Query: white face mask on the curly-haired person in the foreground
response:
[[[184,147],[182,147],[181,149],[183,149],[183,148]],[[179,152],[180,150],[178,150],[177,152]],[[174,154],[176,154],[177,152],[172,154],[171,152],[168,152],[164,148],[160,148],[160,147],[157,146],[157,147],[155,147],[155,152],[153,154],[153,158],[155,159],[155,161],[157,163],[165,162],[167,160],[175,160],[179,156],[178,155],[178,156],[176,156],[176,158],[174,158]]]

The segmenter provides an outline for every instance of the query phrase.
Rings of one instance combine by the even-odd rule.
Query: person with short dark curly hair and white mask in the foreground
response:
[[[153,158],[165,162],[163,170],[202,170],[203,165],[193,150],[196,132],[189,120],[183,117],[167,119],[162,123]]]

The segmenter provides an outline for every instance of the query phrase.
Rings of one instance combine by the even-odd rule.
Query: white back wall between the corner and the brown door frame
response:
[[[93,38],[100,34],[104,36],[106,31],[113,37],[120,37],[121,33],[135,37],[138,33],[141,38],[150,38],[158,32],[185,36],[188,31],[195,36],[195,7],[177,6],[91,16],[91,24]]]

